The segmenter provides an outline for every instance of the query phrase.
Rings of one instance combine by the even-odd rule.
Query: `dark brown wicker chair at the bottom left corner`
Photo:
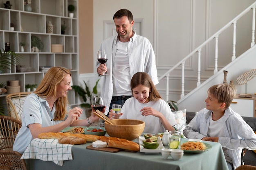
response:
[[[21,127],[20,120],[9,116],[0,116],[0,169],[26,170],[22,154],[13,151],[14,139]]]

